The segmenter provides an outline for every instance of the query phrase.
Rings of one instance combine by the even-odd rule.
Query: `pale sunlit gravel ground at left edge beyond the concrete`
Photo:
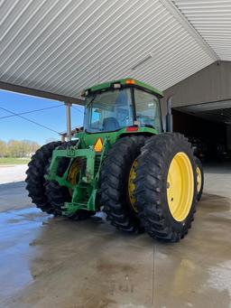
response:
[[[27,164],[0,165],[0,184],[24,181],[27,168]]]

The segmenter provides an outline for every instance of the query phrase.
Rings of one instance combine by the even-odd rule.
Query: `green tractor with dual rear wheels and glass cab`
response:
[[[162,92],[136,79],[85,89],[84,129],[43,145],[27,171],[32,202],[55,216],[99,210],[116,229],[176,242],[188,233],[203,189],[201,164],[183,135],[162,126]],[[165,129],[166,131],[166,129]]]

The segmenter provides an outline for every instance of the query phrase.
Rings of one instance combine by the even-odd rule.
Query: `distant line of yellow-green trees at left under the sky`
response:
[[[30,157],[40,146],[30,140],[0,140],[0,157]]]

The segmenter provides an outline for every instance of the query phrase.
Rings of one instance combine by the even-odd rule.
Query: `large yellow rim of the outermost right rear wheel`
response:
[[[177,221],[187,218],[194,193],[194,176],[189,156],[175,154],[167,178],[167,199],[171,216]]]

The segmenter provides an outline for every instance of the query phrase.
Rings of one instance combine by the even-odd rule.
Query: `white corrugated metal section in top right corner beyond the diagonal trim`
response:
[[[174,0],[208,45],[224,61],[231,61],[231,1]]]

